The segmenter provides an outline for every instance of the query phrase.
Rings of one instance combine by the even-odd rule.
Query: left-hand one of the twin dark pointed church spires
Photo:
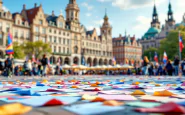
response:
[[[160,22],[159,22],[157,8],[156,8],[155,4],[154,4],[154,9],[153,9],[151,27],[155,27],[157,29],[160,29]]]

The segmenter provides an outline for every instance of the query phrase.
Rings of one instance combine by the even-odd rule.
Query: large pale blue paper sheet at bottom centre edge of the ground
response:
[[[101,114],[101,113],[119,111],[124,109],[124,107],[104,106],[101,102],[78,104],[78,105],[66,106],[62,108],[79,115]]]

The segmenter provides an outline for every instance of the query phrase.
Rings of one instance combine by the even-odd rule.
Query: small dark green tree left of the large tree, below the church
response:
[[[143,53],[143,57],[147,56],[150,61],[154,61],[155,52],[158,54],[158,58],[160,57],[160,53],[157,48],[151,47]]]

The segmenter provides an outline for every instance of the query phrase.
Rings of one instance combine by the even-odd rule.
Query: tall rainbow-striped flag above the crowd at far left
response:
[[[10,32],[8,33],[8,46],[6,47],[6,54],[14,54],[13,51],[13,38]]]

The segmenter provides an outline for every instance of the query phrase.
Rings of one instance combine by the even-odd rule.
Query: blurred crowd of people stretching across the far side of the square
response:
[[[4,62],[0,62],[0,75],[12,76],[47,76],[47,75],[150,75],[150,76],[178,76],[182,73],[185,76],[185,59],[181,62],[178,57],[174,61],[167,60],[166,63],[153,63],[145,56],[141,66],[126,70],[73,70],[63,69],[59,63],[53,68],[48,64],[48,58],[43,55],[42,59],[35,62],[27,60],[24,64],[14,65],[12,55],[9,55]]]

